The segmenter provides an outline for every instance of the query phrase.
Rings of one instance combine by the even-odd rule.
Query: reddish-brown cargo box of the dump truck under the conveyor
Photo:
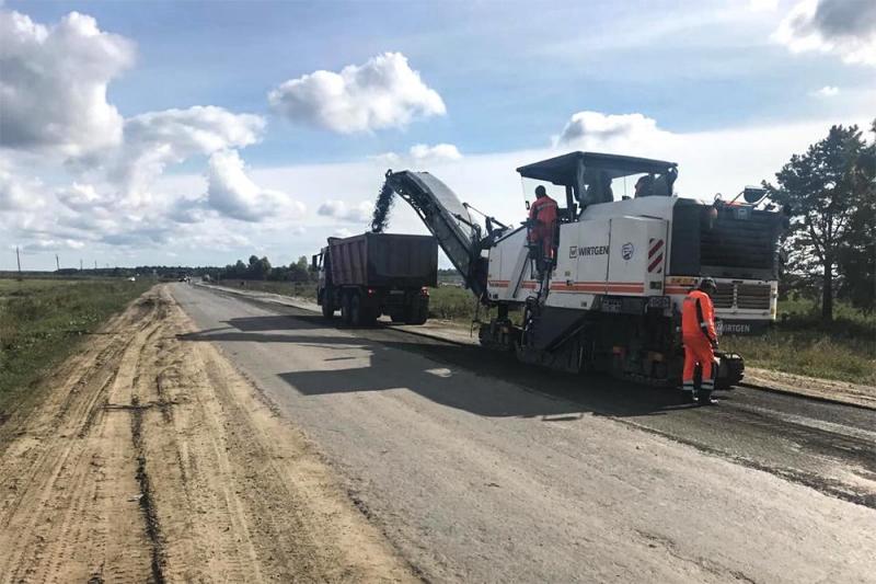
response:
[[[362,233],[328,238],[335,286],[436,286],[438,243],[431,236]]]

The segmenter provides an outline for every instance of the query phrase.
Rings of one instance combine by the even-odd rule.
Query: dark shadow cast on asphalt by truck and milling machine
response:
[[[370,353],[370,366],[346,369],[304,370],[280,374],[289,386],[306,396],[387,391],[407,388],[434,402],[485,416],[544,417],[557,422],[583,413],[611,416],[661,415],[689,409],[671,390],[639,387],[602,375],[569,375],[519,363],[512,355],[479,346],[462,346],[393,331],[343,328],[344,335],[316,314],[267,316],[230,319],[227,328],[181,335],[186,341],[289,343],[337,351]],[[423,362],[384,355],[393,348],[425,356],[448,367],[441,374],[424,370]],[[324,360],[347,360],[347,355]],[[479,385],[485,376],[506,381]],[[520,388],[528,391],[520,391]]]

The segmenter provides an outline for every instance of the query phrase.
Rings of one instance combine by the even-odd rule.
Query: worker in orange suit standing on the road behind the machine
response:
[[[682,375],[682,390],[684,396],[701,404],[716,403],[712,399],[715,389],[715,348],[718,337],[715,333],[715,309],[712,306],[712,296],[717,291],[717,285],[712,278],[703,278],[700,287],[691,290],[684,298],[681,308],[681,340],[684,343],[684,373]],[[702,381],[698,394],[693,386],[693,374],[696,364],[702,368]]]

